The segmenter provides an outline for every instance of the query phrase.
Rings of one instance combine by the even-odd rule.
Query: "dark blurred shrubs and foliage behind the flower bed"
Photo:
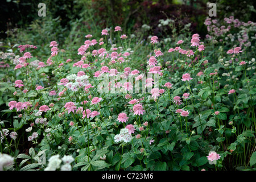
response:
[[[38,16],[39,3],[46,4],[46,17]],[[10,47],[33,44],[43,53],[44,44],[53,40],[76,49],[86,34],[100,37],[102,29],[115,26],[122,27],[122,34],[142,35],[141,40],[153,35],[171,40],[188,31],[204,38],[208,3],[216,3],[218,19],[255,22],[256,1],[248,0],[2,0],[0,40]]]

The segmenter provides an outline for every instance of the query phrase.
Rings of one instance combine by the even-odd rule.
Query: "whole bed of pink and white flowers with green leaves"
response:
[[[205,20],[205,40],[151,36],[147,55],[120,26],[73,57],[56,41],[47,60],[1,52],[0,170],[255,169],[256,23],[222,23]]]

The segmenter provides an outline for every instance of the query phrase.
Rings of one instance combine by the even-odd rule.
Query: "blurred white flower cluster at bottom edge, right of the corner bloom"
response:
[[[64,155],[63,158],[60,159],[60,155],[53,155],[51,158],[49,158],[48,166],[44,169],[44,171],[56,171],[56,169],[59,169],[61,171],[72,171],[71,163],[75,159],[71,155]],[[64,164],[60,167],[61,162]]]

